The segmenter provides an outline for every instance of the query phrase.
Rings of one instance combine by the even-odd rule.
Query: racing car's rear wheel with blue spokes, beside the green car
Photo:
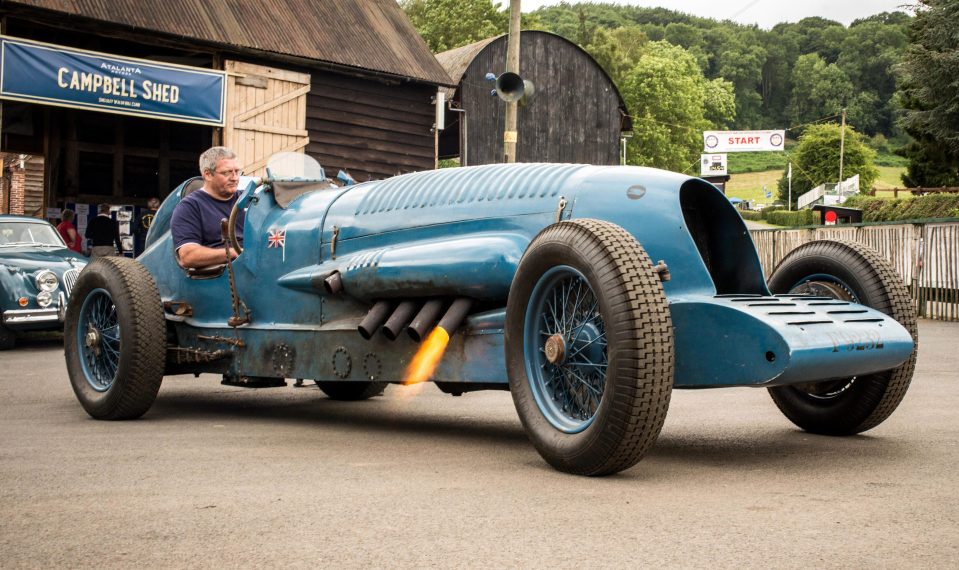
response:
[[[70,383],[90,416],[128,420],[150,409],[163,380],[165,332],[156,282],[140,263],[101,257],[84,268],[63,339]]]

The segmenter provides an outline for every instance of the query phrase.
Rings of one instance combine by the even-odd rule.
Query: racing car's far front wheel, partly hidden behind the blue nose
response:
[[[896,319],[909,331],[912,355],[896,368],[769,389],[782,413],[812,433],[852,435],[888,418],[906,395],[919,349],[916,312],[896,270],[865,245],[814,241],[783,259],[769,279],[769,290],[774,294],[812,293],[866,305]]]

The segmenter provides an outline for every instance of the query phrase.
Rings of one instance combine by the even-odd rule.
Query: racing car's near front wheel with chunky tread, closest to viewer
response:
[[[656,442],[673,387],[672,321],[626,230],[582,219],[540,232],[510,287],[505,350],[516,411],[556,469],[617,473]]]

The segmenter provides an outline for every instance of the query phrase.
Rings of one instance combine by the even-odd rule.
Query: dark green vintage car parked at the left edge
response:
[[[13,348],[17,332],[63,328],[86,263],[49,222],[0,215],[0,350]]]

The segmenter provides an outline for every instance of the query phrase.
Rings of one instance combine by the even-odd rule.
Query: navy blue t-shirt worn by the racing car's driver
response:
[[[170,220],[170,233],[173,234],[174,250],[195,243],[206,247],[223,247],[223,234],[220,232],[220,220],[230,217],[233,204],[239,199],[239,192],[229,200],[217,200],[203,189],[187,194],[173,210]],[[243,212],[237,215],[236,239],[243,243]]]

